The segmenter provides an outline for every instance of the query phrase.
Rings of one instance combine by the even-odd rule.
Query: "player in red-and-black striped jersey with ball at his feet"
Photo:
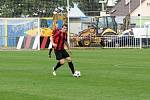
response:
[[[65,63],[65,60],[67,60],[72,75],[74,76],[74,72],[75,72],[74,65],[72,63],[69,53],[64,49],[64,44],[65,44],[69,52],[71,53],[70,47],[67,42],[67,27],[68,27],[67,24],[64,24],[62,26],[62,29],[56,30],[54,35],[50,38],[52,45],[54,47],[56,60],[58,60],[56,66],[53,67],[54,76],[56,76],[56,70]]]

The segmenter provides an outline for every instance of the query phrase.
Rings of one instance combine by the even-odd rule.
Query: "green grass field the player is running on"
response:
[[[48,50],[0,51],[0,100],[150,100],[150,49],[75,49],[52,76]]]

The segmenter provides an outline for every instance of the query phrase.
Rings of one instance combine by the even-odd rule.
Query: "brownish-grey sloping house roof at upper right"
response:
[[[145,0],[141,0],[143,2]],[[126,16],[129,14],[129,8],[130,13],[132,13],[137,7],[140,6],[140,0],[130,0],[129,3],[125,3],[126,0],[120,0],[118,4],[110,11],[112,16]],[[130,7],[129,7],[130,6]]]

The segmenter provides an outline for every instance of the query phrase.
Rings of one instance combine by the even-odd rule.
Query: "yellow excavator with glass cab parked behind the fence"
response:
[[[91,23],[87,29],[79,32],[78,45],[88,47],[92,44],[104,46],[104,35],[117,35],[117,23],[115,16],[95,17],[96,21]]]

